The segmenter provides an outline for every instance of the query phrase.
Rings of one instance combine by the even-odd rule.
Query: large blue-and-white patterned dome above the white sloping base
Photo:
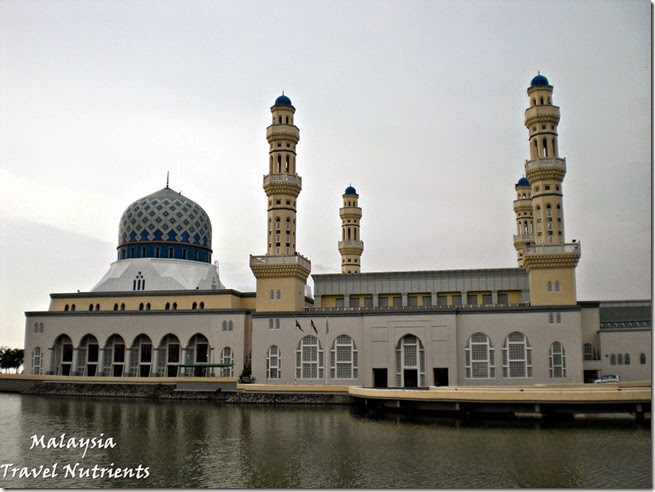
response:
[[[212,225],[193,200],[168,186],[132,203],[118,226],[118,259],[211,262]]]

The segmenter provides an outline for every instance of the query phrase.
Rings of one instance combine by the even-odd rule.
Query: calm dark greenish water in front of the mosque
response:
[[[89,449],[84,458],[82,449],[30,449],[32,435],[45,435],[47,443],[62,433],[66,439],[103,433],[116,445]],[[57,476],[19,478],[21,468],[41,465]],[[136,478],[139,465],[142,475],[148,469],[147,478]],[[94,467],[97,478],[92,478]],[[14,468],[19,470],[11,478]],[[128,468],[135,476],[103,478],[102,468]],[[80,469],[89,476],[80,478]],[[348,407],[0,394],[0,487],[5,488],[652,485],[651,431],[632,422],[384,418]]]

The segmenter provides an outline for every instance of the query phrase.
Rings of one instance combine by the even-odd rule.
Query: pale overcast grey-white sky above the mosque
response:
[[[166,184],[213,225],[221,280],[266,252],[266,127],[300,128],[298,251],[339,272],[516,266],[526,89],[560,106],[580,300],[650,298],[651,5],[645,0],[0,0],[0,346],[90,290],[134,200]]]

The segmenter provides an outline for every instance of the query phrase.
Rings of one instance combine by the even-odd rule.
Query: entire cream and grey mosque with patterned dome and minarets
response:
[[[266,129],[267,249],[249,258],[256,291],[221,282],[210,218],[167,183],[127,207],[117,259],[89,292],[53,293],[47,311],[26,313],[25,372],[395,388],[650,380],[651,301],[577,299],[582,245],[565,239],[560,109],[541,74],[527,95],[516,267],[362,271],[362,208],[348,186],[341,272],[312,275],[312,296],[311,261],[296,249],[299,129],[282,95]]]

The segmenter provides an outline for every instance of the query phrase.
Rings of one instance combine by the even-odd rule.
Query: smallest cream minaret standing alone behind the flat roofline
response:
[[[339,209],[341,217],[341,273],[360,273],[364,242],[359,236],[359,222],[362,220],[362,209],[358,206],[359,195],[351,185],[346,188],[343,196],[343,207]]]

